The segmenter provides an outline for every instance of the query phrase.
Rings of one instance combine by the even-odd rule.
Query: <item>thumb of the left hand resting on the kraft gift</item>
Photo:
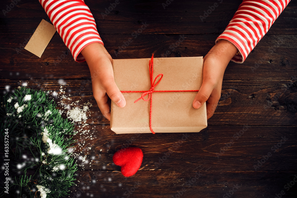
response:
[[[126,105],[126,100],[114,80],[108,80],[105,82],[105,85],[104,88],[109,98],[119,107],[124,107]]]

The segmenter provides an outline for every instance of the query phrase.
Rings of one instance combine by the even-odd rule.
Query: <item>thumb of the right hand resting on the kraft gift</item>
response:
[[[202,106],[204,102],[206,102],[213,90],[213,87],[208,83],[202,83],[198,93],[196,94],[193,100],[193,107],[198,109]]]

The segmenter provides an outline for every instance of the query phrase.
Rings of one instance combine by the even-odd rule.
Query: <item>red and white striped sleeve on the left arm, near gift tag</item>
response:
[[[103,44],[94,17],[83,0],[39,0],[39,2],[75,61],[85,61],[80,51],[87,45],[94,42]]]

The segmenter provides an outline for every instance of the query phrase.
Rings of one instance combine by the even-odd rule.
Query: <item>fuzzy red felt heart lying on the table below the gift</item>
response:
[[[113,154],[113,163],[121,166],[121,172],[125,177],[130,177],[140,168],[143,153],[137,147],[128,147],[123,150],[120,149]]]

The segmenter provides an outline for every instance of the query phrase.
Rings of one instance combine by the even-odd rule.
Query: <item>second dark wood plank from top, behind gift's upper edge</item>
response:
[[[123,42],[129,35],[104,35],[105,47],[112,58],[148,58],[155,57],[205,56],[214,45],[218,35],[185,35],[184,42],[177,47],[173,44],[179,35],[141,34],[122,52]],[[38,58],[23,49],[23,43],[29,39],[28,34],[4,35],[0,45],[3,55],[0,60],[1,78],[28,79],[32,78],[89,78],[89,68],[84,63],[75,62],[61,37],[56,33],[48,47]],[[266,35],[249,54],[243,64],[230,62],[224,79],[278,79],[288,80],[297,75],[297,47],[291,42],[297,40],[296,35]],[[16,51],[19,48],[20,51]],[[117,50],[117,56],[115,52]],[[119,53],[120,52],[120,53]],[[65,56],[66,55],[66,56]],[[166,56],[165,56],[166,57]]]

